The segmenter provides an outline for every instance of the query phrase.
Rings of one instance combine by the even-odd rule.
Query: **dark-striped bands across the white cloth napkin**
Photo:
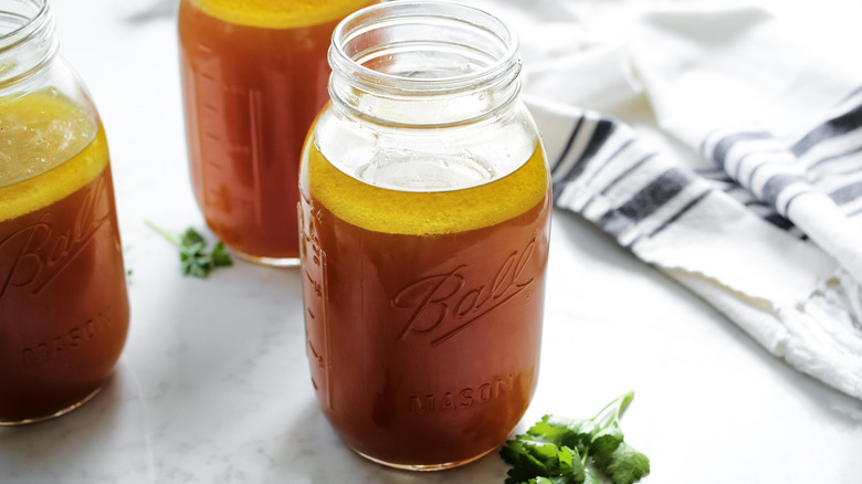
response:
[[[656,234],[709,190],[800,239],[808,234],[788,218],[795,201],[805,206],[814,199],[816,210],[828,208],[849,225],[862,227],[862,87],[788,141],[766,129],[716,129],[700,146],[715,168],[702,170],[644,146],[621,120],[590,112],[572,119],[563,151],[550,160],[555,202],[584,214],[621,245]]]

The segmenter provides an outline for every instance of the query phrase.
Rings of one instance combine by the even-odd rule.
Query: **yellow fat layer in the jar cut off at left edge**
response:
[[[41,128],[38,143],[31,126]],[[62,95],[0,99],[0,222],[69,197],[108,164],[102,126]]]

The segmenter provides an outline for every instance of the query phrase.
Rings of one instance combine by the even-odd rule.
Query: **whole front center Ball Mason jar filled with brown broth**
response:
[[[446,469],[503,442],[539,362],[550,177],[512,31],[449,2],[336,28],[299,187],[307,354],[341,439]]]

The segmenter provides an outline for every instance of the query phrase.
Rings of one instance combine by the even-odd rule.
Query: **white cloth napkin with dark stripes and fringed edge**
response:
[[[556,207],[862,398],[862,80],[756,8],[473,3],[519,32]]]

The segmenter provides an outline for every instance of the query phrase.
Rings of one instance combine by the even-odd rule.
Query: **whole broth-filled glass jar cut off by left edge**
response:
[[[46,0],[0,0],[0,424],[90,399],[129,307],[107,141]]]

